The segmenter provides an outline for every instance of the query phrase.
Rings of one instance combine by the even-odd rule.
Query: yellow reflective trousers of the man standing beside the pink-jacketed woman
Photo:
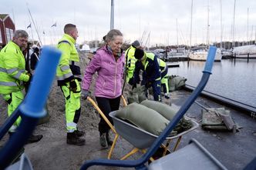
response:
[[[76,125],[79,121],[81,106],[80,106],[80,96],[81,96],[81,88],[79,82],[77,80],[76,92],[72,92],[69,88],[69,82],[66,82],[66,85],[60,86],[62,89],[62,93],[65,97],[65,108],[66,108],[66,130],[67,132],[76,131]]]

